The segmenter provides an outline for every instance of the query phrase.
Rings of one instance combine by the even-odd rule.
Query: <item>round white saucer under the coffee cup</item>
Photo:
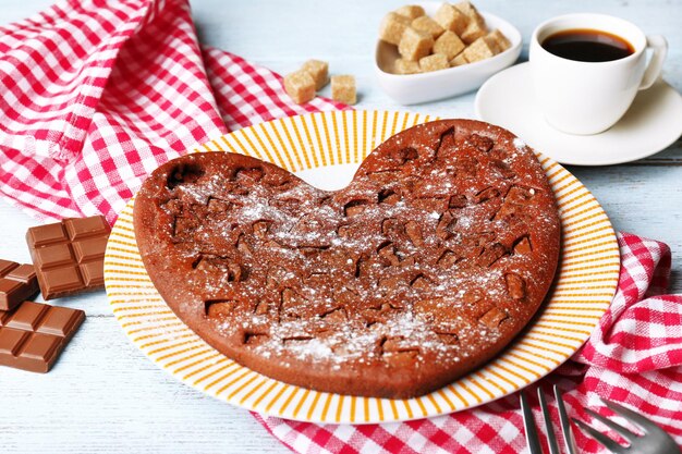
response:
[[[535,102],[528,63],[490,77],[476,94],[476,116],[506,127],[563,164],[610,165],[654,155],[682,135],[682,96],[663,81],[640,91],[611,128],[581,136],[551,127]]]

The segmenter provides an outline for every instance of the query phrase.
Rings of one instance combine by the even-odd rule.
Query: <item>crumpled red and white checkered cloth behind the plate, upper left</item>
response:
[[[111,222],[145,176],[295,105],[281,78],[197,41],[187,0],[72,0],[0,27],[0,193],[32,216]]]

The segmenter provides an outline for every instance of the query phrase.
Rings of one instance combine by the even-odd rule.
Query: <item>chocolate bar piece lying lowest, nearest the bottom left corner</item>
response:
[[[47,372],[83,320],[83,310],[34,302],[0,311],[0,366]]]

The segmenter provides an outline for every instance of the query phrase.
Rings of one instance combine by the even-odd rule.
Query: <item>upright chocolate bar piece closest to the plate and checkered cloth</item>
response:
[[[102,216],[28,229],[26,242],[45,299],[103,289],[111,228]]]

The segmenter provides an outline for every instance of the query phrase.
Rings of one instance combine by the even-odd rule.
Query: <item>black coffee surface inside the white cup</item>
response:
[[[541,42],[548,52],[569,60],[612,61],[632,56],[633,46],[620,36],[592,28],[572,28],[555,33]]]

